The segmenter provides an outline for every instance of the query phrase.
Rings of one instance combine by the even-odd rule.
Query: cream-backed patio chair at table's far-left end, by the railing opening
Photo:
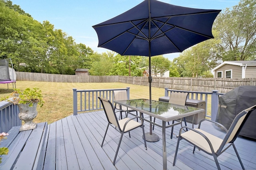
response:
[[[115,97],[115,100],[128,100],[126,90],[114,90],[114,97]],[[115,110],[117,110],[116,112],[120,111],[119,119],[122,119],[122,112],[124,112],[126,117],[127,117],[128,112],[136,111],[136,110],[133,110],[129,107],[125,107],[125,106],[122,106],[122,105],[119,105],[119,104],[115,104],[114,108],[115,108]],[[138,116],[138,111],[136,111],[136,115]],[[138,118],[137,118],[137,121],[138,121]]]

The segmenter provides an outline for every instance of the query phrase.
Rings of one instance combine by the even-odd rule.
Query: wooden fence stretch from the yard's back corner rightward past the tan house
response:
[[[118,76],[118,82],[148,86],[148,77]],[[152,87],[226,93],[238,86],[256,86],[256,78],[152,77]]]

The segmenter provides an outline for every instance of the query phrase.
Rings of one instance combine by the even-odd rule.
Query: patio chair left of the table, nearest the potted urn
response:
[[[145,149],[147,150],[147,144],[146,144],[144,125],[143,125],[142,118],[139,117],[139,116],[134,116],[133,118],[126,117],[124,119],[118,120],[117,117],[116,117],[116,114],[115,114],[114,107],[113,107],[112,103],[109,100],[105,99],[105,98],[101,98],[101,97],[98,97],[98,98],[99,98],[100,102],[102,103],[103,109],[104,109],[106,117],[108,119],[108,126],[107,126],[107,129],[106,129],[105,135],[103,137],[101,147],[103,146],[103,143],[104,143],[109,125],[111,125],[112,127],[114,127],[117,131],[119,131],[121,133],[121,137],[120,137],[120,140],[119,140],[119,143],[118,143],[118,147],[116,149],[116,155],[115,155],[114,160],[113,160],[113,165],[115,165],[116,157],[117,157],[118,150],[119,150],[119,147],[120,147],[120,144],[121,144],[122,137],[123,137],[124,133],[128,132],[129,137],[131,137],[130,136],[130,131],[133,130],[133,129],[136,129],[137,127],[142,128],[144,145],[145,145]],[[133,119],[136,119],[136,118],[139,118],[141,123],[133,120]]]

